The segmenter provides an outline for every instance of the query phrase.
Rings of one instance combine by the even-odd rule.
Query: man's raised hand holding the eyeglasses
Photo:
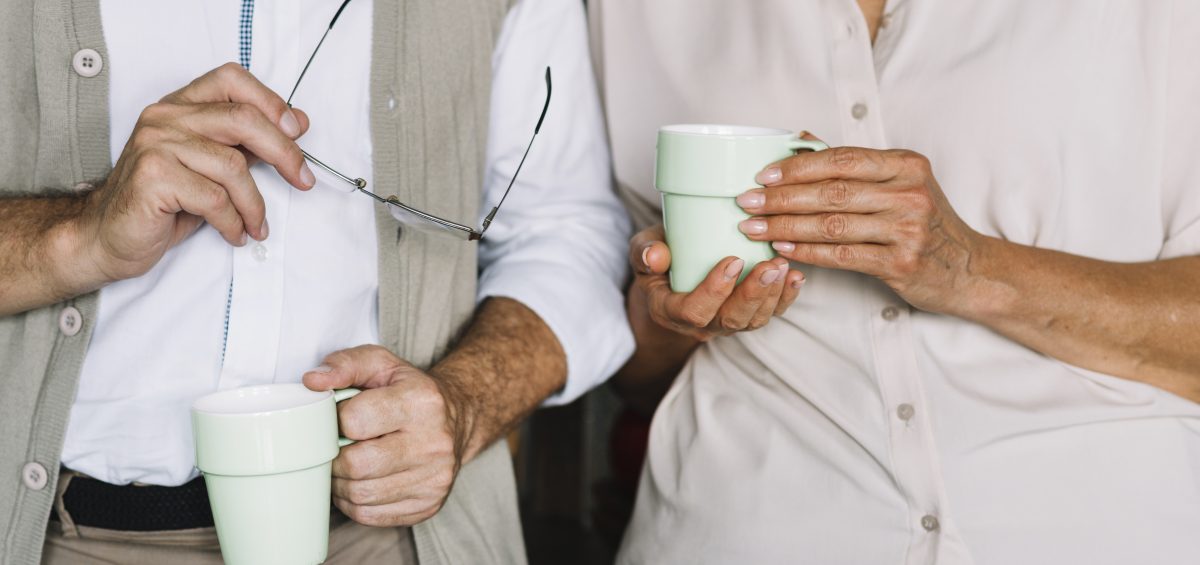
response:
[[[79,218],[78,290],[146,272],[205,221],[230,245],[247,234],[266,239],[251,160],[275,166],[296,188],[312,187],[294,142],[307,127],[302,112],[235,64],[148,107]]]

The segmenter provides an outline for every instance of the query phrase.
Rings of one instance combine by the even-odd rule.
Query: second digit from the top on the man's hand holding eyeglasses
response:
[[[307,190],[316,182],[295,140],[284,136],[257,107],[228,102],[196,106],[179,118],[192,132],[223,145],[241,145],[270,163],[292,186]]]

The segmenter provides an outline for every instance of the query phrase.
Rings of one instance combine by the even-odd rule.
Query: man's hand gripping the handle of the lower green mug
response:
[[[312,390],[359,387],[337,407],[342,435],[358,443],[334,459],[334,504],[366,525],[412,525],[450,495],[469,425],[445,381],[379,345],[344,349],[304,375]]]

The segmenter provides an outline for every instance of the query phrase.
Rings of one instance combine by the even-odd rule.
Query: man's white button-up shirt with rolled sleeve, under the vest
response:
[[[338,4],[257,0],[250,71],[286,96]],[[101,2],[114,162],[145,106],[238,60],[241,5]],[[371,13],[372,0],[350,2],[293,100],[312,121],[300,145],[368,182]],[[505,19],[480,209],[491,209],[516,169],[547,65],[551,109],[480,244],[479,297],[516,299],[554,331],[569,375],[548,402],[560,403],[602,381],[632,349],[619,287],[629,227],[611,190],[583,8],[574,0],[524,0]],[[197,475],[194,398],[299,381],[329,353],[378,342],[377,204],[319,172],[310,192],[264,164],[251,172],[266,202],[266,241],[234,248],[204,226],[146,275],[101,290],[62,453],[67,468],[118,485],[180,485]]]

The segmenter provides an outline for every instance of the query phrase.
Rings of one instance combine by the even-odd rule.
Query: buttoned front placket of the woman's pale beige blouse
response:
[[[889,7],[890,4],[889,2]],[[845,145],[886,149],[876,59],[870,31],[853,0],[828,0],[833,74]],[[889,10],[888,30],[898,25]],[[878,37],[877,37],[878,40]],[[920,374],[912,350],[911,308],[881,289],[868,299],[872,353],[893,474],[907,504],[911,533],[905,563],[935,563],[944,530],[941,471],[932,429],[925,417]]]

